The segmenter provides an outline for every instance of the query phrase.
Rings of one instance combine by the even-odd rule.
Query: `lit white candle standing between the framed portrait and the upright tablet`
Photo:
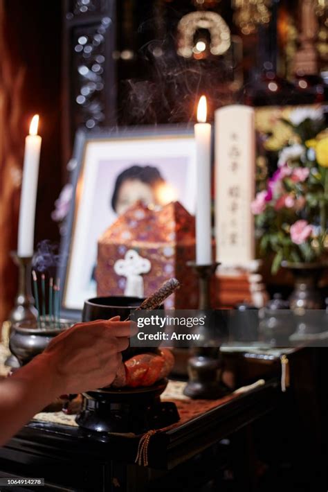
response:
[[[212,263],[212,233],[210,214],[210,136],[211,126],[206,123],[206,97],[201,96],[194,125],[197,159],[197,204],[196,204],[196,263]]]

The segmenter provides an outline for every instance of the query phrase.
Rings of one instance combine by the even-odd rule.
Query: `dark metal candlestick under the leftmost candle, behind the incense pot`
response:
[[[9,331],[16,323],[36,322],[37,319],[37,310],[34,307],[34,299],[30,288],[30,270],[33,256],[19,256],[17,252],[11,252],[10,256],[18,267],[18,290],[15,306],[11,310],[8,319],[10,322]],[[20,365],[15,355],[9,355],[5,364],[9,367],[19,367]]]

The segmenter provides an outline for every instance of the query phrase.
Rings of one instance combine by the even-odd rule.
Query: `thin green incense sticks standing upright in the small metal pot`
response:
[[[33,291],[35,307],[37,308],[37,327],[60,328],[60,279],[53,282],[51,276],[48,281],[48,299],[46,298],[46,275],[41,274],[41,298],[39,297],[37,272],[33,270]]]

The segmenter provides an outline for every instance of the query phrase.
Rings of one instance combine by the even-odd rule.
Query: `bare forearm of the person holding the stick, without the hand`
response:
[[[0,446],[62,393],[51,358],[39,355],[0,383]]]

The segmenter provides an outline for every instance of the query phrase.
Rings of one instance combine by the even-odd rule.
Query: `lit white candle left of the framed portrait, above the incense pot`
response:
[[[19,205],[18,256],[33,256],[35,204],[37,202],[37,178],[42,138],[37,134],[39,116],[30,123],[30,134],[25,139],[24,170]]]

